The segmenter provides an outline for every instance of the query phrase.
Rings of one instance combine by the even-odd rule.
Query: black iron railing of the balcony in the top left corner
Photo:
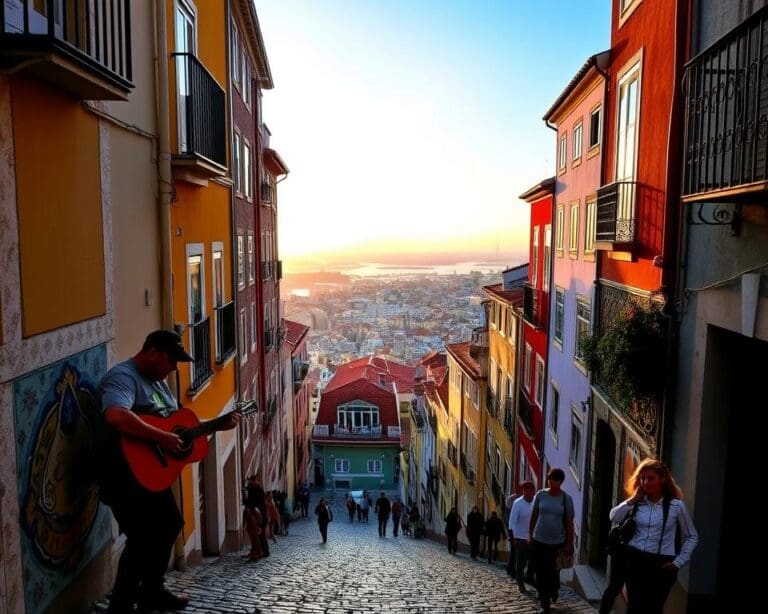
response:
[[[0,2],[4,61],[12,65],[51,52],[127,94],[133,87],[130,0]],[[71,74],[68,81],[72,86],[79,76]],[[116,97],[105,93],[102,98]]]

